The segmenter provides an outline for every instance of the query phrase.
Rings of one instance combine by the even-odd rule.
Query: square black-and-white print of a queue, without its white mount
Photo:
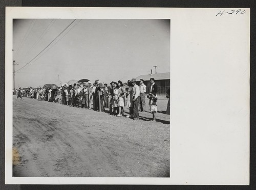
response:
[[[169,177],[169,19],[13,19],[13,176]]]

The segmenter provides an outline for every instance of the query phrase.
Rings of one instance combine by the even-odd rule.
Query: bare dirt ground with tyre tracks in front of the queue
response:
[[[169,177],[169,115],[157,122],[13,96],[13,176]],[[148,109],[148,105],[146,105]],[[127,108],[125,113],[129,113]]]

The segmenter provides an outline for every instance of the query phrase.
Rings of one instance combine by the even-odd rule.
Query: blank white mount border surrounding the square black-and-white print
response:
[[[223,10],[6,7],[5,183],[249,184],[250,9],[218,15]],[[170,19],[169,178],[12,176],[12,20],[18,18]]]

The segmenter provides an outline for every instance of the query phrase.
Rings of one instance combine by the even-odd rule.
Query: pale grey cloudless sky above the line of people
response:
[[[59,86],[58,75],[62,84],[82,78],[109,84],[155,73],[156,65],[157,73],[170,71],[170,20],[76,19],[67,28],[72,21],[14,20],[15,88]]]

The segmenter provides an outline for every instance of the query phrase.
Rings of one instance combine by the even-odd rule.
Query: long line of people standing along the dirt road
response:
[[[98,112],[104,112],[105,107],[109,107],[109,114],[116,117],[125,116],[124,106],[129,107],[129,115],[127,118],[134,120],[139,119],[139,110],[145,112],[146,101],[150,106],[149,111],[152,113],[152,121],[156,121],[157,113],[157,85],[155,79],[150,78],[151,88],[147,92],[144,80],[140,79],[140,85],[136,84],[136,79],[128,80],[127,83],[111,82],[110,87],[107,84],[102,84],[100,80],[95,80],[92,84],[90,81],[85,83],[74,83],[73,85],[65,84],[59,88],[35,88],[27,89],[22,92],[19,88],[17,98],[22,98],[22,93],[27,97],[48,100],[50,102],[61,103],[70,107],[80,107]],[[167,92],[166,97],[169,98]],[[166,113],[169,114],[169,101]]]

